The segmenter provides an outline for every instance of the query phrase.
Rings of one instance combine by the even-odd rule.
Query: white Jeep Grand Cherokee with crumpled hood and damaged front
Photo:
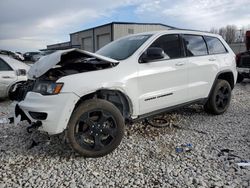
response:
[[[129,35],[96,53],[57,51],[28,75],[16,116],[49,134],[65,131],[76,152],[100,157],[120,144],[126,121],[192,103],[222,114],[237,71],[219,35],[167,30]]]

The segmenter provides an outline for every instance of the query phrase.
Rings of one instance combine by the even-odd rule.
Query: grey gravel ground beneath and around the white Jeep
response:
[[[97,159],[79,157],[60,136],[26,133],[25,122],[0,124],[0,188],[250,187],[250,167],[236,164],[250,160],[250,81],[233,94],[220,116],[194,105],[166,114],[165,128],[130,125],[118,149]],[[0,101],[0,118],[8,112]]]

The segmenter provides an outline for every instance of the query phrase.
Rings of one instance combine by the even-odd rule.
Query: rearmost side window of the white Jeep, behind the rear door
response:
[[[204,38],[207,43],[209,54],[221,54],[227,52],[226,48],[218,38],[208,36],[205,36]]]

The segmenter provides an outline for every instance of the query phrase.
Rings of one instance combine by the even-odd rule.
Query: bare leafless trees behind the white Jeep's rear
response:
[[[250,25],[247,27],[241,27],[238,29],[235,25],[227,25],[219,29],[212,27],[210,33],[219,34],[227,43],[234,42],[244,42],[246,31],[250,28]]]

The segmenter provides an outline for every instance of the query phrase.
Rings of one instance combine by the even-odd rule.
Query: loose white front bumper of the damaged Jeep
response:
[[[15,116],[21,115],[21,120],[29,123],[40,121],[40,131],[58,134],[64,131],[79,97],[74,93],[58,95],[41,95],[35,92],[27,93],[15,109]]]

